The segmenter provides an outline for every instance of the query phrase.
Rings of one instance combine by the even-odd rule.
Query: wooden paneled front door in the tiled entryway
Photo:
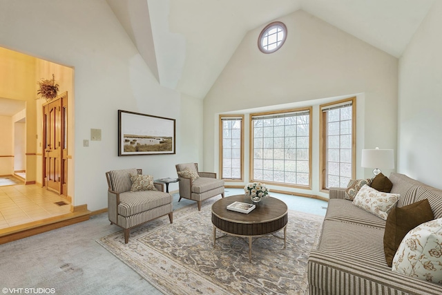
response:
[[[44,106],[44,185],[67,196],[67,93]]]

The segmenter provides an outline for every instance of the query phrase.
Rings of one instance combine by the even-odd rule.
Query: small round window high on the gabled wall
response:
[[[281,48],[287,38],[287,28],[284,23],[275,21],[269,23],[260,33],[258,48],[262,53],[274,53]]]

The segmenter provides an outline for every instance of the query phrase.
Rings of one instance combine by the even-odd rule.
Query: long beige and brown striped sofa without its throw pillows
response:
[[[442,191],[399,173],[390,174],[398,207],[428,199],[442,218]],[[385,220],[345,200],[345,189],[330,189],[318,245],[309,255],[309,294],[442,294],[442,286],[392,272],[385,262]]]

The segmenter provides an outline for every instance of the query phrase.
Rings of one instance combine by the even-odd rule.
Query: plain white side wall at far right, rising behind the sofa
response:
[[[399,61],[398,172],[442,189],[442,2]]]

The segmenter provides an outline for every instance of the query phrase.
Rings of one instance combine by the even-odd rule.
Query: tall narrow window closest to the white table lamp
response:
[[[322,189],[347,187],[355,175],[356,97],[320,106]]]

